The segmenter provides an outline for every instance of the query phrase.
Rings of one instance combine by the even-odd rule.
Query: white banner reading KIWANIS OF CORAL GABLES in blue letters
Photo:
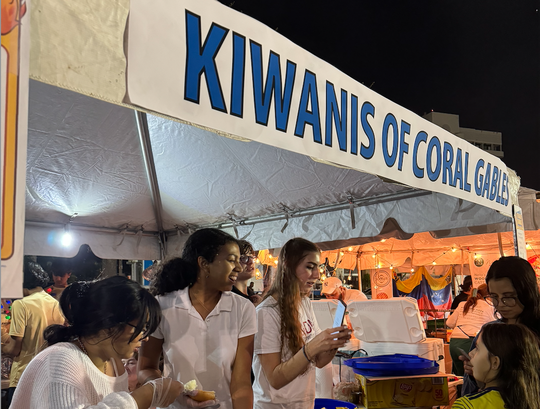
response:
[[[251,17],[214,0],[132,0],[127,32],[126,103],[512,213],[500,159]]]

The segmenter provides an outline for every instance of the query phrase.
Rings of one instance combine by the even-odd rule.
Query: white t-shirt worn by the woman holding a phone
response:
[[[321,332],[313,312],[313,306],[308,297],[303,297],[299,308],[299,318],[304,332],[305,343],[312,340]],[[300,375],[281,389],[274,389],[268,383],[262,370],[259,354],[281,351],[280,328],[281,318],[278,302],[268,297],[257,306],[257,327],[253,352],[253,383],[254,409],[313,409],[315,402],[315,368]],[[290,359],[292,354],[284,346],[282,362]]]

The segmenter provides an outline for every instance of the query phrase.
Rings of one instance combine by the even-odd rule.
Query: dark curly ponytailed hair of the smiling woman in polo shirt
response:
[[[186,287],[191,288],[197,281],[199,257],[211,263],[219,249],[227,243],[239,244],[236,238],[222,230],[195,231],[187,239],[181,257],[170,258],[159,266],[150,285],[152,294],[165,295]]]

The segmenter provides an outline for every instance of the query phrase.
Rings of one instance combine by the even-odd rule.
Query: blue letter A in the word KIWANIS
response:
[[[311,101],[311,111],[308,110],[308,104]],[[317,95],[317,79],[315,73],[306,70],[302,85],[302,94],[298,107],[298,117],[296,118],[296,127],[294,135],[303,138],[306,124],[313,127],[313,141],[322,144],[321,117],[319,114],[319,97]]]

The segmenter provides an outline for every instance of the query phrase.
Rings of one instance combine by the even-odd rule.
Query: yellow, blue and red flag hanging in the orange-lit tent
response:
[[[440,278],[432,277],[425,267],[420,267],[407,280],[395,277],[395,297],[413,297],[421,310],[448,310],[452,304],[452,268]],[[444,312],[426,312],[435,318],[444,318]],[[421,312],[422,316],[426,314]]]

